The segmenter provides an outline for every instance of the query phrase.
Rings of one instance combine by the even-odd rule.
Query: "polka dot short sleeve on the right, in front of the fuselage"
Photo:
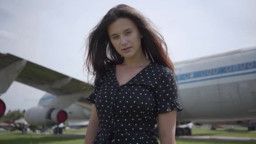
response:
[[[171,112],[174,109],[177,112],[182,110],[178,99],[176,76],[169,68],[163,67],[163,73],[155,87],[155,99],[157,113]]]

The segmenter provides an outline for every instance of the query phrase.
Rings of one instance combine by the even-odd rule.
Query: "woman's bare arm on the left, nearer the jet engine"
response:
[[[99,119],[97,116],[96,107],[94,104],[92,104],[91,108],[91,117],[89,120],[87,132],[85,135],[85,144],[93,144],[95,137],[99,130]]]

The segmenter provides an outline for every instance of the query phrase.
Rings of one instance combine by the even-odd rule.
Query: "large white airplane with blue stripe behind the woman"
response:
[[[256,47],[175,63],[179,83],[179,124],[188,122],[235,123],[255,130]],[[93,86],[11,54],[0,53],[0,93],[11,83],[46,91],[36,107],[28,109],[30,125],[56,125],[66,120],[88,120],[91,104],[85,97]],[[51,94],[50,94],[51,93]],[[0,100],[0,114],[5,103]],[[177,135],[191,134],[176,128]]]

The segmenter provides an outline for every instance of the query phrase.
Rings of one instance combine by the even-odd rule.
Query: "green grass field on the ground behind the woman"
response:
[[[85,133],[85,129],[70,129],[64,131],[65,134]],[[50,131],[47,131],[50,133]],[[217,129],[211,131],[209,128],[193,128],[193,135],[199,136],[243,136],[256,137],[255,131],[246,131],[246,128],[235,128],[234,130]],[[39,135],[29,132],[22,135],[20,131],[9,133],[0,131],[0,144],[83,144],[82,137],[63,137],[53,135]],[[184,140],[176,139],[177,144],[255,144],[255,141],[212,141],[212,140]]]

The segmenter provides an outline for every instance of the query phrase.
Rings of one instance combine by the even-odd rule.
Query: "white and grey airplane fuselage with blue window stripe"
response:
[[[256,49],[176,64],[181,121],[256,119]]]

